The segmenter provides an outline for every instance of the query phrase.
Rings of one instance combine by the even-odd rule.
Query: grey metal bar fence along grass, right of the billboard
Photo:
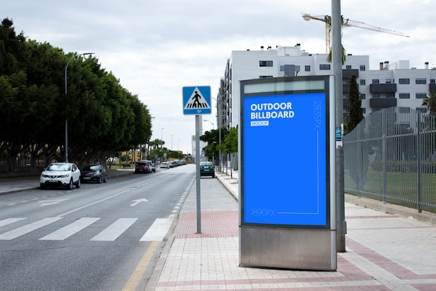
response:
[[[371,113],[343,138],[345,192],[436,213],[436,117]]]

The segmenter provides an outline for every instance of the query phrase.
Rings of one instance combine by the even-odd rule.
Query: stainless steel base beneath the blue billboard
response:
[[[240,267],[336,271],[336,231],[240,226]]]

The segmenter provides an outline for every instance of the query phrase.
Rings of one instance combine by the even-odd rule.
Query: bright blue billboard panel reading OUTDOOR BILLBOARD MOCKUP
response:
[[[242,96],[242,225],[329,227],[326,93]]]

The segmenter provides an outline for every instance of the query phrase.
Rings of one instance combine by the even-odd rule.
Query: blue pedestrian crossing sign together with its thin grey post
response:
[[[212,113],[210,86],[183,87],[183,114],[195,115],[197,233],[201,233],[200,115]]]

